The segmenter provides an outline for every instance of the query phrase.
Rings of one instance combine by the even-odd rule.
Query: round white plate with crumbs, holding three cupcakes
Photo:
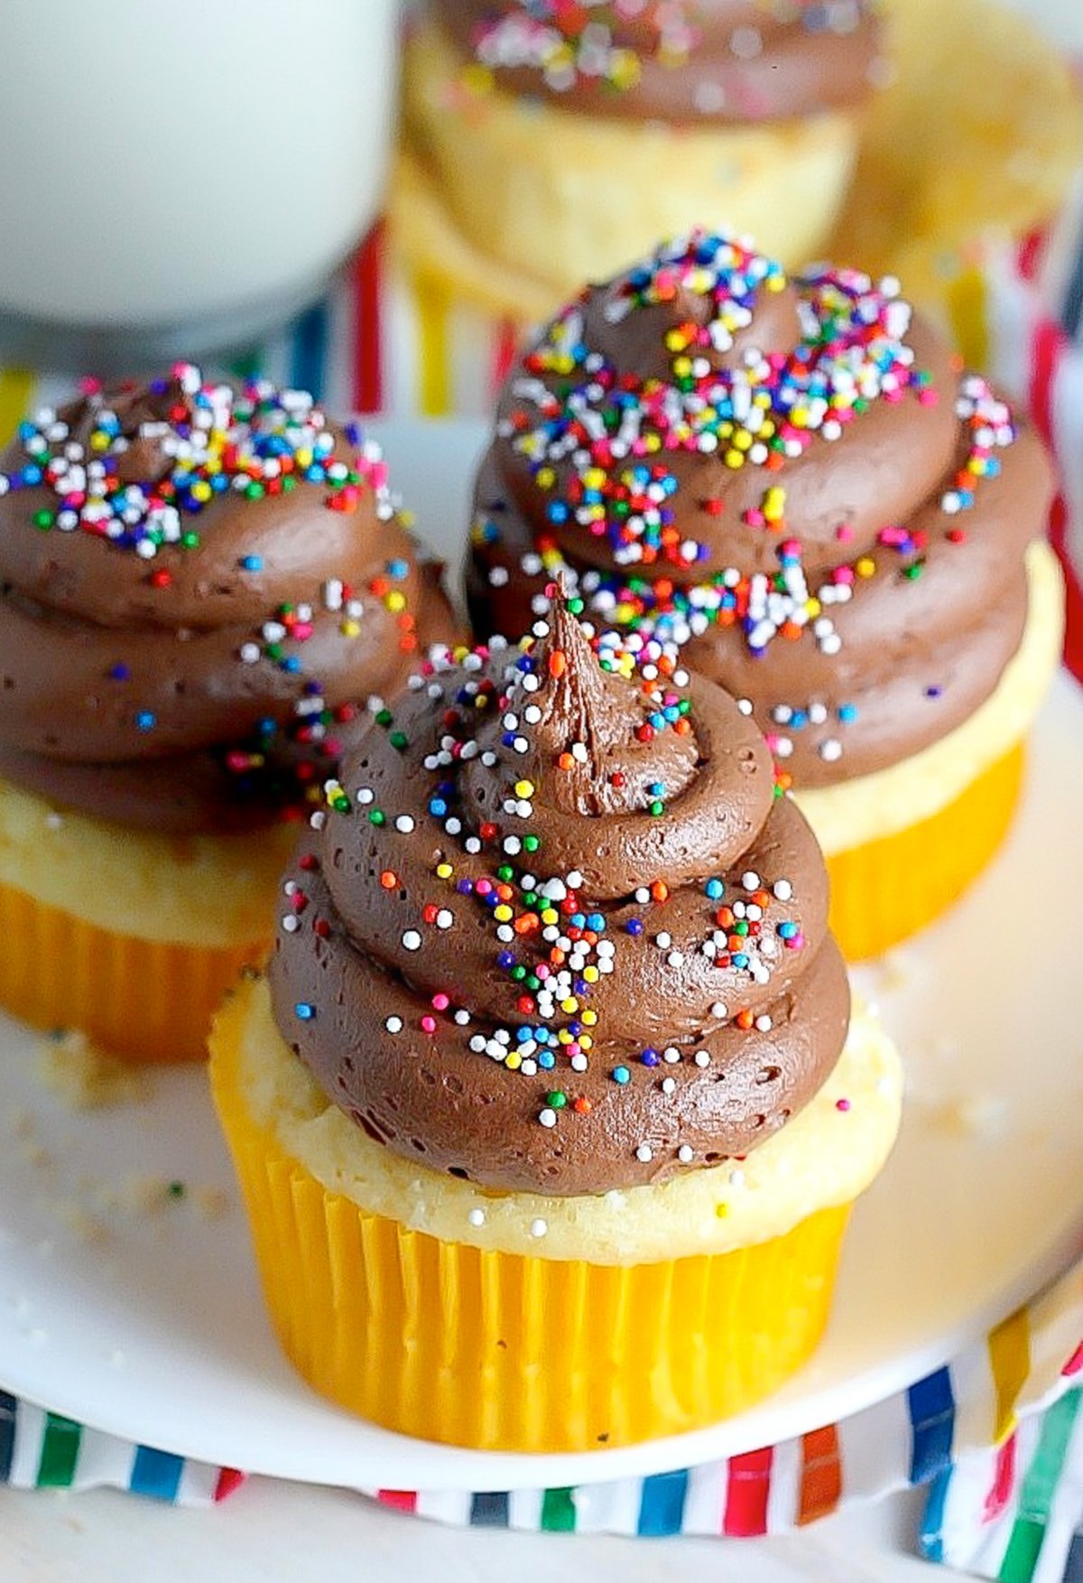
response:
[[[421,526],[451,548],[474,424],[389,426]],[[756,1412],[579,1456],[406,1441],[307,1390],[264,1320],[201,1072],[74,1114],[0,1023],[0,1382],[114,1434],[338,1485],[566,1485],[689,1466],[832,1423],[945,1363],[1083,1246],[1083,695],[1062,678],[1012,839],[957,912],[862,974],[909,1064],[900,1145],[862,1200],[814,1361]],[[142,1205],[139,1178],[179,1179]],[[201,1213],[201,1189],[228,1211]],[[104,1208],[101,1208],[104,1201]]]

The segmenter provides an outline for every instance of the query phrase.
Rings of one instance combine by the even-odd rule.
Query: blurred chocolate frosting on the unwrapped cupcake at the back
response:
[[[506,92],[634,120],[760,122],[857,104],[881,46],[865,0],[435,0],[435,13]]]

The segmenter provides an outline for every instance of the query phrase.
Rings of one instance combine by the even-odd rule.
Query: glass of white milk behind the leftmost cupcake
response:
[[[0,363],[239,345],[373,220],[397,0],[0,6]]]

